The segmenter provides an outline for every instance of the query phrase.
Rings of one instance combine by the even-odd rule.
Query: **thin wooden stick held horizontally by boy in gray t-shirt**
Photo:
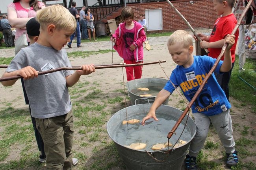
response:
[[[138,64],[118,64],[118,65],[105,65],[105,66],[94,66],[95,69],[103,69],[103,68],[120,68],[120,67],[130,67],[130,66],[142,66],[142,65],[149,65],[149,64],[159,64],[159,63],[163,63],[166,61],[157,61],[157,62],[145,62],[145,63],[138,63]],[[49,74],[49,73],[54,73],[56,71],[62,71],[62,70],[82,70],[82,68],[70,68],[70,67],[61,67],[61,68],[56,68],[56,69],[51,69],[48,71],[41,71],[38,72],[38,75],[43,75],[43,74]],[[15,79],[20,79],[22,78],[19,75],[16,76],[11,76],[11,77],[5,77],[5,78],[1,78],[0,82],[2,81],[9,81],[9,80],[15,80]]]

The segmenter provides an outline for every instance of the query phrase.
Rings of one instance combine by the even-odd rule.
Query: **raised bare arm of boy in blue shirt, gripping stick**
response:
[[[221,72],[227,72],[232,68],[232,57],[231,57],[230,49],[232,48],[232,46],[235,43],[235,37],[236,36],[229,35],[229,34],[226,36],[225,43],[228,43],[228,46],[224,53],[223,64],[221,65],[221,68],[220,68]]]

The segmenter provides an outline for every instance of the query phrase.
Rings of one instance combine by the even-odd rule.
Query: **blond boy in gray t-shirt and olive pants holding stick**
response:
[[[36,18],[40,23],[37,42],[22,48],[2,77],[20,75],[24,78],[31,115],[35,117],[36,128],[45,145],[46,168],[72,170],[74,118],[68,87],[76,84],[81,75],[94,72],[95,68],[93,64],[82,65],[82,70],[75,72],[64,70],[38,77],[38,71],[71,67],[63,47],[76,29],[76,20],[61,5],[42,9]],[[16,81],[2,84],[12,86]]]

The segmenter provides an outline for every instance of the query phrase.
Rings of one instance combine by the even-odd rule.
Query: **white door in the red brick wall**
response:
[[[148,31],[163,29],[162,9],[146,9],[145,18]]]

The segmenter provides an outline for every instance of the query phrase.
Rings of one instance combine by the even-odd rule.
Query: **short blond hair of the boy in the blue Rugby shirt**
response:
[[[167,46],[172,46],[174,44],[180,44],[184,48],[193,46],[193,37],[187,31],[177,30],[168,38]]]

